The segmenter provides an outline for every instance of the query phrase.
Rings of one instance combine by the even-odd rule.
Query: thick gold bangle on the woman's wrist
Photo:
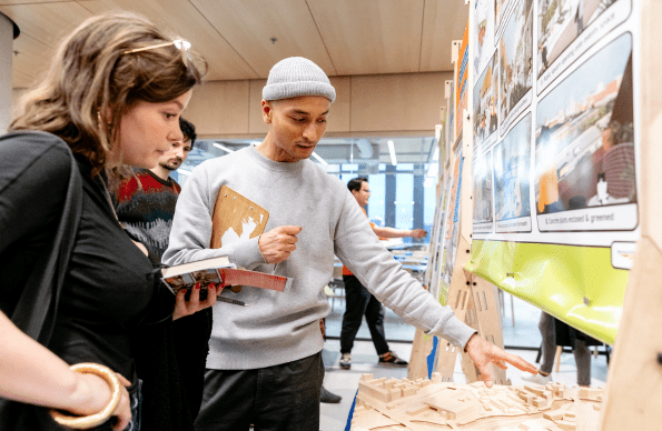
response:
[[[72,417],[61,413],[57,410],[50,410],[49,413],[51,418],[58,422],[58,424],[72,430],[87,430],[100,425],[101,423],[106,422],[108,418],[110,418],[112,412],[115,412],[115,409],[117,409],[117,404],[119,404],[119,399],[121,398],[121,384],[119,379],[108,367],[103,367],[98,363],[77,363],[71,365],[71,371],[83,374],[95,374],[106,380],[110,387],[110,391],[112,392],[110,395],[110,401],[103,408],[103,410],[87,417]]]

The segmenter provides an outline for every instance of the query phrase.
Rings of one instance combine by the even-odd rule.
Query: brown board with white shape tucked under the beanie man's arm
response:
[[[267,225],[269,212],[246,199],[227,186],[223,186],[216,198],[211,216],[211,240],[209,248],[219,249],[238,240],[248,240],[261,234]],[[234,292],[241,287],[233,287]]]

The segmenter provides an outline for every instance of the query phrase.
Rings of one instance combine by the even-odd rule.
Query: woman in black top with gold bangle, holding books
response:
[[[161,288],[117,220],[107,172],[151,168],[182,139],[205,68],[146,19],[103,14],[23,94],[0,138],[0,429],[192,429],[177,371],[159,362],[167,350],[140,347],[169,345],[172,320],[216,295]]]

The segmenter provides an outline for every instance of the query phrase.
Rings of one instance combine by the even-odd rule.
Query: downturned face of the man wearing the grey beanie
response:
[[[270,124],[277,161],[296,162],[313,154],[326,131],[329,107],[330,101],[322,96],[263,100],[263,117]]]

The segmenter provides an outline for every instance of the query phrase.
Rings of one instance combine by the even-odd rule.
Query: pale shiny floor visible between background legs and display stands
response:
[[[540,310],[524,301],[514,299],[515,325],[512,323],[511,299],[505,295],[505,315],[503,317],[504,342],[506,345],[539,347],[541,335],[537,330]],[[338,337],[342,327],[342,313],[344,303],[336,301],[334,310],[327,317],[327,335]],[[395,315],[391,310],[386,310],[385,332],[389,340],[413,340],[415,328],[407,325]],[[364,323],[357,334],[358,338],[369,339],[367,325]],[[412,354],[412,344],[402,342],[389,342],[391,350],[398,357],[408,360]],[[378,364],[378,357],[370,341],[357,341],[352,352],[352,369],[342,370],[338,365],[340,359],[340,344],[338,340],[327,340],[324,350],[324,360],[326,364],[326,378],[324,385],[333,393],[343,397],[339,404],[322,404],[322,417],[319,429],[322,431],[343,431],[347,422],[347,415],[358,389],[358,379],[360,374],[372,373],[375,377],[393,377],[402,379],[407,377],[406,367],[393,367]],[[508,350],[518,354],[531,363],[534,363],[537,351],[533,350]],[[513,384],[524,384],[520,370],[508,368],[507,378]],[[594,358],[591,364],[591,377],[593,387],[603,387],[606,382],[607,365],[604,355]],[[465,382],[464,373],[460,361],[455,367],[454,381]],[[561,355],[560,370],[553,372],[554,381],[565,383],[566,385],[576,385],[576,367],[572,353]]]

